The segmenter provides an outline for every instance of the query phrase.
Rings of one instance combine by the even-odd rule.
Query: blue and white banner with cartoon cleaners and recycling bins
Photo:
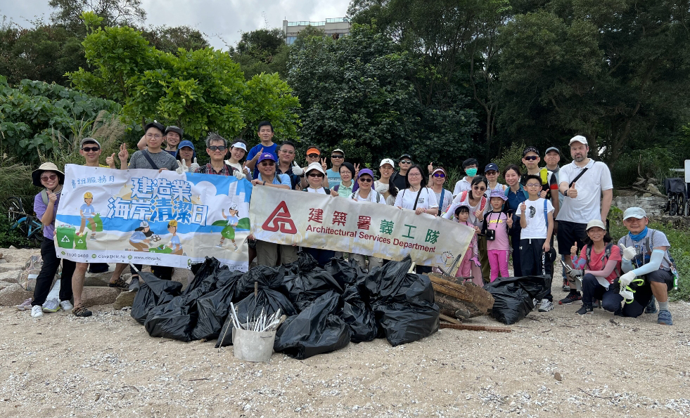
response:
[[[234,176],[65,166],[58,257],[189,268],[215,256],[248,270],[252,185]]]

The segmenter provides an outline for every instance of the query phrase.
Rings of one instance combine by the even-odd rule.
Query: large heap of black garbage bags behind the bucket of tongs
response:
[[[180,341],[217,339],[232,344],[230,303],[250,322],[262,311],[287,316],[274,350],[303,359],[376,338],[392,346],[428,337],[439,327],[439,308],[425,275],[407,273],[409,256],[364,273],[354,261],[333,258],[325,268],[311,255],[283,266],[231,271],[215,258],[192,267],[194,279],[179,282],[141,272],[144,283],[132,318],[151,337]],[[244,321],[243,321],[244,322]]]

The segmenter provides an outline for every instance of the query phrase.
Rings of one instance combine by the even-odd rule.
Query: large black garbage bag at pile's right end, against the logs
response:
[[[439,326],[431,281],[426,275],[407,273],[411,264],[407,256],[364,277],[376,323],[392,346],[428,337]]]

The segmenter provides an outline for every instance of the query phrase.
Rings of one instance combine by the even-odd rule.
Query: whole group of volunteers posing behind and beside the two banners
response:
[[[471,280],[476,285],[493,282],[497,277],[509,277],[510,261],[514,277],[528,275],[553,276],[554,263],[563,263],[563,290],[566,297],[560,304],[582,301],[578,314],[601,307],[615,315],[637,317],[643,312],[656,311],[658,323],[672,325],[667,292],[675,280],[675,266],[664,233],[647,228],[649,218],[643,209],[628,208],[623,223],[630,231],[618,244],[608,235],[607,217],[611,209],[613,183],[611,173],[603,162],[589,158],[589,145],[584,136],[574,136],[568,143],[573,162],[559,166],[561,152],[551,147],[544,152],[545,166],[539,166],[542,155],[535,147],[523,151],[525,171],[509,164],[502,171],[491,162],[479,174],[477,159],[462,163],[464,174],[451,192],[446,188],[447,172],[441,166],[428,164],[426,171],[414,164],[408,154],[395,162],[381,160],[378,176],[372,169],[362,168],[345,160],[345,152],[331,151],[331,167],[326,155],[316,145],[309,146],[304,164],[295,161],[294,143],[274,143],[274,129],[262,122],[257,129],[260,143],[248,150],[245,141],[228,141],[216,133],[207,136],[205,145],[210,162],[200,166],[191,141],[183,141],[184,131],[177,126],[167,128],[151,122],[137,144],[139,150],[129,157],[124,144],[120,152],[106,158],[115,169],[175,170],[179,173],[197,172],[220,176],[247,178],[254,187],[331,195],[362,203],[387,204],[464,224],[473,230],[473,237],[457,270],[456,277]],[[167,143],[163,149],[163,143]],[[93,138],[84,138],[79,151],[85,165],[98,165],[101,147]],[[499,174],[505,184],[499,183]],[[34,200],[34,211],[44,223],[41,256],[44,266],[37,278],[34,297],[30,301],[32,316],[42,315],[52,277],[60,259],[55,254],[53,236],[55,214],[59,204],[64,174],[51,163],[42,164],[32,174],[34,184],[44,188]],[[297,259],[298,247],[255,240],[249,241],[250,262],[275,266]],[[554,242],[557,243],[558,255]],[[383,265],[385,260],[363,254],[338,254],[327,249],[304,248],[323,265],[333,256],[352,258],[363,270]],[[560,259],[559,257],[560,256]],[[120,278],[126,267],[118,264],[110,280],[113,287],[136,287],[141,266],[132,269],[128,285]],[[91,312],[82,305],[81,293],[86,263],[63,260],[59,306],[65,311],[88,316]],[[428,273],[430,267],[419,266],[418,273]],[[161,278],[170,278],[172,268],[152,266]],[[560,279],[559,279],[560,280]],[[535,301],[539,312],[551,311],[554,299],[550,290],[544,299]],[[27,305],[28,306],[28,305]]]

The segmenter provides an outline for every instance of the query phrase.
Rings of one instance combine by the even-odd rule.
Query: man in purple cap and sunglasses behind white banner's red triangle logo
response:
[[[259,176],[252,181],[255,187],[267,187],[290,190],[290,177],[276,172],[276,157],[270,152],[264,152],[257,158]],[[269,189],[270,190],[270,189]],[[254,235],[248,236],[255,240]],[[259,266],[279,266],[297,260],[297,249],[292,245],[276,244],[256,240],[256,260]]]

